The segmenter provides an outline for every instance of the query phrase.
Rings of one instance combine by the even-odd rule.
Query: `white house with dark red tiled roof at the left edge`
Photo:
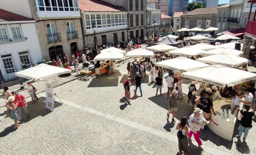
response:
[[[35,19],[0,9],[1,82],[17,78],[15,72],[43,60],[35,22]]]

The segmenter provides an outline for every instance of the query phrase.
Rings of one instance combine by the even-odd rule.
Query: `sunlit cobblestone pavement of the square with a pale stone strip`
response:
[[[173,123],[166,118],[165,80],[163,95],[156,96],[156,86],[149,83],[148,70],[142,82],[143,97],[131,93],[129,106],[122,85],[127,74],[126,63],[116,63],[116,67],[115,79],[103,75],[56,87],[54,91],[64,104],[56,102],[53,112],[44,108],[45,94],[40,93],[39,102],[28,106],[32,119],[16,131],[12,129],[13,120],[4,115],[6,108],[0,108],[0,154],[177,154],[175,128],[182,116],[188,117],[186,94],[190,80],[184,79],[184,99],[179,101],[177,122]],[[133,89],[131,86],[131,92]],[[191,154],[255,154],[254,121],[246,142],[236,138],[229,142],[209,129],[201,130],[204,151],[195,146],[192,138]]]

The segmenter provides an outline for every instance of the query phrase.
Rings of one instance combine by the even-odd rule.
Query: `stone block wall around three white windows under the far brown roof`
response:
[[[185,28],[185,21],[189,21],[188,29],[197,27],[197,21],[201,20],[201,29],[206,29],[206,20],[211,20],[210,27],[216,26],[217,14],[181,16],[180,28]]]

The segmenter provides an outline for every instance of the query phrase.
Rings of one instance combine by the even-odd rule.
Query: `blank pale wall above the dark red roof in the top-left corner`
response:
[[[0,9],[33,18],[28,0],[1,0]]]

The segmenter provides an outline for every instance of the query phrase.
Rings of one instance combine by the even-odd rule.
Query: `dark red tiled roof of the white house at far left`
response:
[[[11,22],[11,21],[35,21],[32,18],[27,18],[3,9],[0,9],[0,22]]]

